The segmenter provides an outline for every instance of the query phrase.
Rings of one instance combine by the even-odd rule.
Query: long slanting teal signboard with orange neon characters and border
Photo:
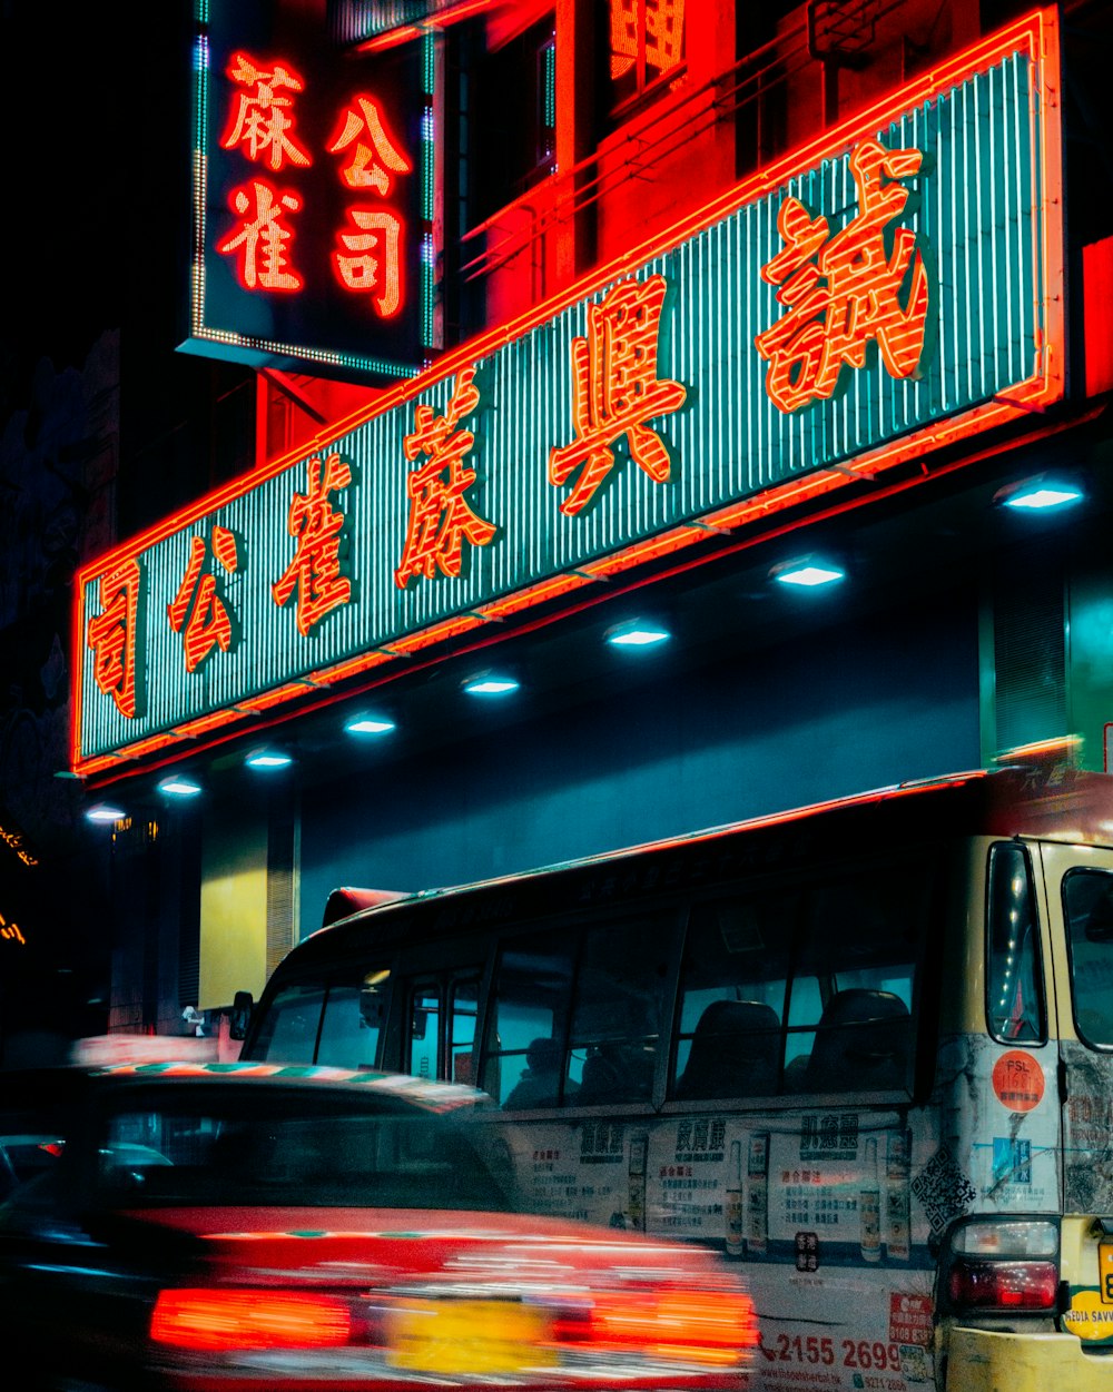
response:
[[[1048,10],[446,355],[311,457],[276,459],[84,568],[75,771],[110,775],[333,683],[390,677],[407,657],[709,529],[1060,400],[1057,100]],[[794,202],[805,221],[822,213],[832,252],[847,237],[868,252],[862,170],[889,152],[900,177],[882,181],[878,284],[903,264],[901,246],[900,292],[929,283],[917,370],[894,366],[878,327],[837,390],[781,411],[755,344],[791,301],[776,271],[791,220],[779,214]],[[125,631],[130,670],[116,661]]]

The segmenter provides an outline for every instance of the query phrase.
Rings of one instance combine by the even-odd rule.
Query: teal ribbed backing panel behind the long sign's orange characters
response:
[[[461,352],[451,374],[435,380],[435,369],[397,388],[386,409],[329,444],[319,458],[336,451],[352,475],[329,498],[343,519],[351,594],[309,632],[298,631],[304,593],[295,590],[280,604],[273,586],[295,560],[291,507],[309,491],[313,461],[258,470],[192,516],[170,519],[152,539],[84,572],[75,625],[75,764],[142,750],[162,735],[178,738],[173,732],[189,721],[389,650],[408,635],[547,578],[599,565],[685,522],[716,521],[794,480],[846,468],[862,455],[922,452],[942,423],[953,438],[1020,412],[1018,395],[1032,401],[1043,393],[1039,400],[1052,400],[1061,391],[1061,377],[1048,369],[1061,348],[1048,269],[1048,244],[1057,235],[1050,223],[1057,156],[1043,120],[1045,86],[1054,74],[1039,58],[1041,25],[1050,24],[1049,17],[1027,24],[997,52],[981,47],[965,68],[956,61],[947,82],[896,93],[885,120],[875,116],[876,124],[862,121],[836,134],[829,148],[809,152],[798,167],[786,161],[776,180],[761,175],[740,185],[733,205],[716,205],[726,212],[694,223],[641,264],[624,264],[563,308],[542,306],[514,337],[489,335],[471,361]],[[929,269],[928,345],[914,377],[892,376],[869,345],[865,365],[844,367],[830,398],[787,413],[766,390],[768,365],[755,348],[755,337],[784,313],[777,287],[762,277],[784,249],[777,216],[793,196],[822,210],[832,234],[846,227],[859,212],[850,157],[868,139],[924,156],[919,173],[905,181],[915,198],[900,221],[915,232]],[[618,429],[606,440],[613,454],[606,482],[588,507],[566,515],[561,503],[574,479],[553,486],[549,454],[575,438],[574,341],[589,338],[589,306],[606,302],[616,285],[651,277],[667,284],[657,380],[680,383],[687,393],[681,406],[642,422],[667,448],[669,477],[655,482],[639,468],[625,429]],[[479,402],[458,422],[474,436],[458,464],[475,472],[464,497],[478,519],[495,526],[495,536],[489,544],[461,546],[458,576],[417,575],[403,587],[396,571],[411,525],[407,483],[425,462],[423,455],[407,458],[405,440],[417,430],[418,412],[446,416],[469,367]],[[235,537],[238,564],[231,572],[213,558],[216,526]],[[227,651],[212,650],[187,672],[182,633],[167,621],[167,607],[196,537],[231,615],[233,640]],[[98,685],[98,650],[89,639],[91,624],[109,603],[100,579],[127,557],[138,557],[142,572],[134,714],[120,709],[103,668]]]

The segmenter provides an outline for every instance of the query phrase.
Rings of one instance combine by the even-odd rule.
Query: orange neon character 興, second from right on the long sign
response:
[[[588,306],[588,335],[573,340],[573,426],[575,440],[549,451],[549,482],[566,483],[584,465],[560,504],[579,512],[614,464],[612,444],[625,436],[630,455],[655,483],[669,477],[669,452],[652,416],[684,405],[678,381],[657,377],[657,330],[667,284],[663,276],[627,280],[599,305]]]

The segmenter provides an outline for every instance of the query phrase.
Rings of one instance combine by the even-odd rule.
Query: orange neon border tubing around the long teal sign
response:
[[[146,532],[141,532],[124,546],[113,551],[103,553],[96,560],[86,562],[78,571],[74,583],[72,642],[75,647],[75,661],[74,702],[70,722],[70,748],[74,773],[88,777],[89,774],[100,773],[109,768],[118,771],[121,761],[139,759],[143,753],[162,748],[164,739],[163,734],[152,735],[146,739],[137,741],[134,745],[123,746],[111,754],[95,756],[91,759],[85,759],[81,754],[84,683],[82,644],[85,639],[84,594],[86,585],[98,579],[109,565],[117,564],[125,557],[139,555],[148,547],[157,544],[167,536],[171,536],[182,528],[191,525],[198,518],[206,516],[217,511],[226,503],[252,491],[260,483],[274,477],[288,465],[302,462],[308,454],[315,450],[327,448],[329,444],[341,438],[344,434],[365,422],[393,409],[397,405],[401,405],[419,393],[429,390],[436,383],[443,381],[446,377],[453,376],[453,373],[468,367],[479,358],[486,356],[499,347],[529,333],[538,324],[556,317],[571,305],[578,303],[581,299],[585,299],[618,277],[632,274],[649,263],[655,256],[659,256],[696,235],[705,227],[727,217],[747,202],[763,193],[772,192],[798,170],[812,168],[825,157],[841,152],[855,139],[868,134],[872,135],[876,129],[882,128],[894,113],[905,111],[925,100],[929,100],[942,90],[961,84],[985,67],[989,67],[1015,52],[1022,52],[1032,60],[1032,88],[1034,93],[1039,99],[1041,110],[1038,145],[1032,152],[1032,160],[1034,171],[1039,174],[1042,168],[1043,175],[1043,199],[1038,213],[1042,232],[1042,256],[1039,263],[1039,280],[1042,287],[1041,308],[1045,317],[1046,335],[1042,345],[1043,351],[1039,354],[1036,373],[1011,388],[1007,400],[983,402],[970,411],[950,416],[937,425],[932,425],[910,436],[904,436],[892,444],[882,445],[864,455],[855,455],[848,464],[840,464],[837,469],[823,469],[815,475],[808,475],[805,479],[790,480],[784,484],[766,490],[765,493],[756,494],[755,497],[740,500],[729,507],[703,514],[699,518],[687,519],[684,523],[678,523],[674,529],[670,529],[666,533],[649,537],[645,541],[634,543],[634,546],[616,551],[609,557],[603,557],[598,561],[589,562],[588,565],[579,567],[579,574],[586,574],[589,578],[603,578],[606,575],[620,574],[635,565],[644,564],[653,555],[664,555],[670,551],[676,551],[681,547],[703,540],[708,535],[703,528],[730,529],[762,516],[770,516],[773,512],[779,512],[801,501],[808,501],[832,490],[841,489],[847,483],[861,479],[872,479],[885,469],[890,469],[907,459],[926,455],[935,448],[950,445],[971,436],[981,434],[999,425],[1028,416],[1031,412],[1041,412],[1048,404],[1060,400],[1064,391],[1066,354],[1061,219],[1061,74],[1057,11],[1054,7],[1048,7],[1031,11],[996,33],[989,35],[965,49],[963,53],[949,58],[939,67],[921,74],[905,86],[880,97],[878,102],[858,111],[855,116],[851,116],[833,129],[823,131],[814,141],[800,146],[797,150],[777,160],[775,164],[770,164],[765,170],[759,170],[741,184],[737,184],[731,189],[719,195],[719,198],[713,199],[698,213],[678,220],[657,237],[642,242],[639,246],[623,253],[606,266],[598,267],[589,276],[568,287],[563,294],[556,295],[517,319],[510,320],[497,329],[488,330],[468,342],[461,344],[458,348],[446,352],[426,372],[398,383],[398,386],[390,388],[389,391],[384,391],[372,408],[364,408],[354,412],[348,418],[343,418],[332,423],[327,434],[320,434],[313,440],[305,441],[294,450],[287,451],[286,454],[277,455],[269,464],[254,469],[249,475],[231,480],[223,487],[215,489],[212,493],[205,494],[203,497],[188,504],[178,512],[163,518],[162,522],[149,528]],[[1032,187],[1038,187],[1039,182],[1039,180],[1034,180]],[[1059,210],[1059,216],[1053,217],[1052,209]],[[744,544],[751,543],[747,541]],[[514,596],[508,596],[504,600],[493,600],[489,604],[481,606],[476,610],[476,614],[486,614],[490,618],[503,617],[508,612],[518,611],[513,607],[518,599],[525,600],[532,596],[528,603],[522,604],[522,607],[527,608],[532,607],[532,604],[542,603],[546,599],[552,599],[554,593],[566,593],[567,590],[575,587],[575,580],[571,576],[549,576],[542,583],[515,592]],[[486,619],[478,618],[476,622],[486,624]],[[384,650],[384,647],[380,646],[369,653],[344,658],[333,667],[320,668],[312,675],[315,679],[319,678],[326,682],[340,679],[338,674],[343,674],[344,677],[358,675],[371,667],[382,665],[383,661],[391,661],[391,654],[403,656],[403,642],[407,644],[410,651],[436,642],[437,639],[432,635],[443,636],[443,625],[437,624],[430,629],[422,631],[421,633],[408,635],[404,640],[391,640],[389,650]],[[284,686],[279,690],[284,692],[288,688]],[[304,695],[304,686],[297,686],[290,689],[290,695],[293,696],[298,692]],[[247,703],[241,703],[241,709],[245,707]],[[233,720],[240,718],[240,710],[231,710],[227,714],[230,714]],[[202,721],[191,721],[188,725],[177,727],[180,738],[188,738],[187,732],[191,735],[196,734],[199,724],[209,722],[212,720],[213,717],[203,717]]]

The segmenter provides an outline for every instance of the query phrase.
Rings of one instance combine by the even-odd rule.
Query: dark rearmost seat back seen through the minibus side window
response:
[[[892,991],[848,987],[823,1008],[808,1063],[811,1093],[868,1093],[908,1086],[908,1006]]]

